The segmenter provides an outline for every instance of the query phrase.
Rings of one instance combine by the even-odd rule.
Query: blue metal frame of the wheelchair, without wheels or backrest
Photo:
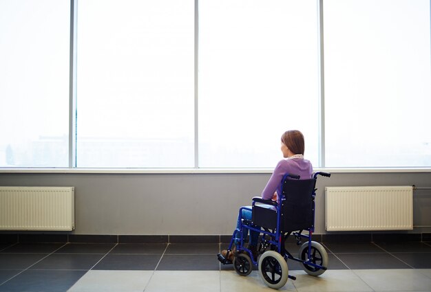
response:
[[[235,243],[235,240],[238,240],[238,238],[240,238],[240,244],[237,246],[237,253],[243,253],[243,254],[248,254],[249,258],[251,259],[251,263],[254,266],[258,265],[258,261],[257,259],[253,258],[253,254],[251,252],[250,249],[244,247],[244,236],[242,234],[242,230],[244,229],[249,229],[249,231],[255,231],[255,232],[259,232],[260,233],[260,246],[259,246],[259,251],[265,251],[267,247],[271,247],[271,250],[273,251],[277,251],[278,254],[281,254],[284,258],[284,260],[295,260],[296,262],[301,262],[304,267],[312,267],[313,269],[322,269],[323,271],[326,271],[327,267],[324,267],[322,265],[318,265],[315,262],[313,262],[313,256],[308,256],[308,258],[306,260],[301,259],[301,258],[295,258],[294,256],[292,256],[291,253],[289,253],[288,251],[286,251],[286,249],[284,248],[284,243],[286,241],[286,239],[288,238],[288,236],[290,236],[291,234],[293,234],[293,236],[295,236],[295,239],[297,240],[297,245],[301,245],[302,244],[302,238],[306,239],[308,241],[308,255],[312,254],[312,236],[313,236],[313,232],[314,230],[314,222],[315,222],[315,191],[317,190],[315,188],[315,184],[317,181],[317,176],[318,175],[322,175],[324,177],[330,177],[329,173],[326,172],[316,172],[313,175],[313,190],[312,190],[312,194],[311,196],[313,197],[312,201],[313,201],[313,207],[312,207],[312,213],[313,213],[313,223],[311,224],[310,227],[301,229],[301,230],[295,230],[295,232],[293,231],[281,231],[280,230],[282,228],[282,200],[285,200],[286,197],[284,196],[283,192],[282,192],[282,188],[283,186],[281,186],[281,188],[279,190],[277,190],[278,194],[282,194],[282,196],[280,196],[280,203],[277,203],[276,201],[272,201],[272,200],[264,200],[261,197],[255,196],[253,197],[253,203],[251,208],[249,206],[247,207],[241,207],[239,210],[239,214],[238,214],[238,228],[235,228],[233,234],[232,234],[232,238],[231,238],[231,243],[229,244],[228,247],[228,254],[226,255],[226,258],[224,258],[223,256],[221,256],[220,254],[218,255],[218,259],[220,260],[220,262],[222,262],[222,264],[227,265],[227,264],[231,264],[232,262],[229,261],[227,258],[229,256],[229,253],[232,252],[232,247]],[[284,175],[283,179],[282,179],[282,185],[284,183],[284,181],[286,181],[286,179],[299,179],[298,175],[293,175],[293,174],[286,174]],[[252,221],[246,221],[244,219],[242,219],[242,210],[249,210],[251,212],[253,212],[253,207],[255,207],[256,203],[262,203],[264,205],[268,205],[271,206],[273,208],[273,210],[276,210],[276,217],[277,217],[277,224],[275,229],[273,229],[273,231],[271,231],[271,228],[266,228],[266,227],[260,227],[260,226],[256,226],[253,225]],[[262,205],[260,205],[262,206]],[[304,230],[308,231],[308,234],[302,234],[302,232]],[[249,232],[248,232],[249,233]],[[238,236],[237,236],[238,234]],[[263,252],[262,251],[262,252]],[[315,260],[315,259],[314,259]],[[248,274],[248,273],[247,273]],[[288,278],[291,278],[292,280],[295,280],[294,276],[288,276]]]

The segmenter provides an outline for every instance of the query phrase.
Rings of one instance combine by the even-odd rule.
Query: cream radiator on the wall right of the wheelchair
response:
[[[326,187],[327,231],[412,230],[413,187]]]

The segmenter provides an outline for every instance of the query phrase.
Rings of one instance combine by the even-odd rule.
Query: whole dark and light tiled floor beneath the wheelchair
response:
[[[431,291],[431,243],[323,243],[329,266],[308,276],[288,261],[282,291]],[[288,244],[295,254],[298,247]],[[273,291],[258,271],[220,265],[222,244],[0,245],[0,291]]]

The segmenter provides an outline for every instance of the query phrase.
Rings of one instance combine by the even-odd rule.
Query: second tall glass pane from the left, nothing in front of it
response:
[[[194,166],[194,1],[78,3],[77,167]]]

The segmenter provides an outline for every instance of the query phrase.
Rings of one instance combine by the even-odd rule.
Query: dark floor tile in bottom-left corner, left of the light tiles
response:
[[[27,270],[0,285],[8,292],[63,292],[72,287],[86,271],[36,271]]]

